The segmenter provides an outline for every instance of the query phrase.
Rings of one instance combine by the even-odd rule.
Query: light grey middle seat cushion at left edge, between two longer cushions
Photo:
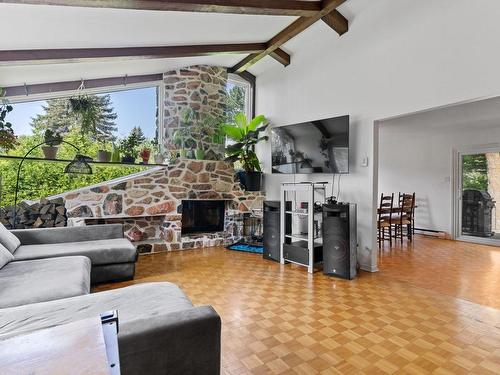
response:
[[[0,270],[0,308],[89,292],[90,260],[83,256],[10,262]]]

